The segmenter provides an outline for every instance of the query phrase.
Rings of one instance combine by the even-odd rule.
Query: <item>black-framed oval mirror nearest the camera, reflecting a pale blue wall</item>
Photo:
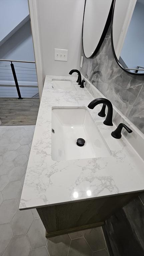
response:
[[[118,65],[144,75],[144,0],[114,0],[111,35]]]

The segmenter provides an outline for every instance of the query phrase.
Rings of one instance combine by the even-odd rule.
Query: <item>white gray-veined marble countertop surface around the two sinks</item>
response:
[[[73,82],[77,79],[60,76],[53,78],[70,79]],[[105,118],[97,115],[100,111],[99,105],[88,111],[97,123],[112,155],[103,158],[52,160],[52,107],[87,107],[93,100],[86,88],[79,88],[76,82],[75,84],[78,88],[76,91],[54,90],[52,77],[46,76],[20,210],[144,190],[143,160],[124,136],[119,140],[111,136],[116,127],[103,124]],[[77,198],[74,197],[75,192]]]

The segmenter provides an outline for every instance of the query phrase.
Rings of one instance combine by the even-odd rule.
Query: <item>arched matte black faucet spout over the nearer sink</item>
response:
[[[88,105],[88,108],[93,109],[96,105],[101,104],[101,103],[105,104],[108,107],[107,116],[103,123],[105,125],[112,126],[113,125],[113,123],[112,123],[113,107],[109,100],[104,99],[104,98],[98,98],[98,99],[92,100],[90,102],[90,104]]]

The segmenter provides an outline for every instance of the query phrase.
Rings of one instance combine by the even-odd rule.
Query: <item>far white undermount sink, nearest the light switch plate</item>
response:
[[[52,88],[55,90],[76,91],[76,87],[70,80],[54,80],[52,79]]]

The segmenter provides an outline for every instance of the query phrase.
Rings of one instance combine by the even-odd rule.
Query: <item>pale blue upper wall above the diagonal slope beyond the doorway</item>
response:
[[[0,0],[0,41],[28,15],[27,0]]]

